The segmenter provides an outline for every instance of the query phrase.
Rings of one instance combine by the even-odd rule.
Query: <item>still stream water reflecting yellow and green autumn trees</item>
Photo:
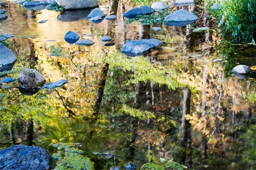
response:
[[[33,68],[47,83],[68,83],[33,95],[22,94],[15,81],[0,84],[0,148],[34,144],[53,154],[51,142],[81,143],[95,169],[125,169],[129,162],[139,169],[160,158],[187,169],[255,169],[256,74],[238,79],[231,69],[256,65],[256,47],[220,45],[217,26],[200,8],[206,2],[165,2],[172,10],[197,12],[199,20],[185,27],[125,23],[123,13],[140,6],[126,1],[100,4],[106,16],[117,15],[100,23],[87,19],[91,10],[2,4],[8,19],[0,33],[15,35],[5,41],[17,56],[12,70]],[[193,31],[200,27],[209,29]],[[68,31],[95,43],[69,44]],[[104,46],[103,36],[112,46]],[[142,56],[121,53],[125,41],[146,38],[162,43]]]

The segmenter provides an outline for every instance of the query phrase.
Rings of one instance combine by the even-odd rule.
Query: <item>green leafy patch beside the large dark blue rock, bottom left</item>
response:
[[[88,169],[94,170],[94,163],[87,157],[83,156],[83,151],[77,147],[80,143],[51,143],[58,152],[53,154],[57,160],[57,170],[65,169]]]

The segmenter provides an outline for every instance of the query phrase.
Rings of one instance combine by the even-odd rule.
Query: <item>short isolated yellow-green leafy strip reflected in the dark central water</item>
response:
[[[131,108],[129,106],[123,105],[123,107],[119,110],[121,112],[125,112],[130,114],[133,117],[137,117],[139,119],[145,120],[149,118],[156,118],[156,115],[149,111],[140,111],[138,109]]]

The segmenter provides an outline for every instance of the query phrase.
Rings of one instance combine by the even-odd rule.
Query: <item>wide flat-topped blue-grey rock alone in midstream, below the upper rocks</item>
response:
[[[141,40],[129,40],[123,45],[122,52],[127,56],[139,56],[150,50],[151,48],[157,47],[161,41],[151,38],[151,39],[141,39]]]

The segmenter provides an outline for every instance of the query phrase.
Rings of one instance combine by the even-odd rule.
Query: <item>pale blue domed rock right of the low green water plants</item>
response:
[[[189,25],[190,23],[194,23],[197,20],[198,17],[194,15],[192,12],[181,9],[167,15],[165,17],[165,24],[167,26],[183,27]]]

